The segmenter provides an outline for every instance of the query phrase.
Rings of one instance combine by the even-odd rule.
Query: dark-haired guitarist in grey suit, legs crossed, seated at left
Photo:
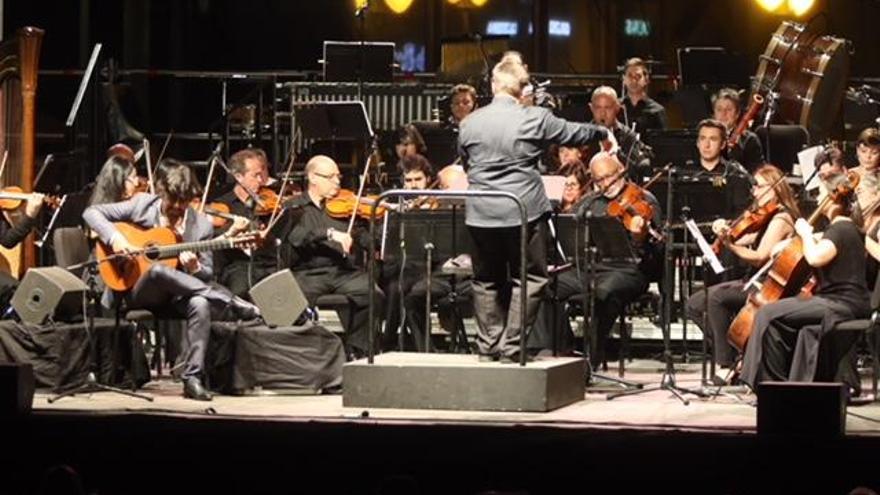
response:
[[[175,160],[164,160],[156,171],[156,195],[138,194],[119,203],[92,205],[83,213],[83,219],[115,253],[140,249],[122,235],[113,222],[130,222],[139,227],[166,227],[176,232],[183,242],[211,239],[213,226],[203,215],[190,207],[200,186],[193,171]],[[211,319],[219,317],[231,307],[238,317],[258,316],[256,306],[218,290],[208,282],[212,277],[212,255],[183,252],[179,257],[180,270],[160,263],[152,265],[127,294],[130,307],[173,307],[186,315],[189,349],[183,371],[183,395],[189,399],[211,400],[211,394],[202,384],[205,350],[211,331]]]

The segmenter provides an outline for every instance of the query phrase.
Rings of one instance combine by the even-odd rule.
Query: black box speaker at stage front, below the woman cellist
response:
[[[846,432],[842,383],[758,384],[758,434],[839,437]]]

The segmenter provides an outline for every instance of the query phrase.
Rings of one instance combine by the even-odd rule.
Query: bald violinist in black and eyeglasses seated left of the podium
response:
[[[361,247],[368,247],[368,241],[366,235],[353,236],[347,220],[332,218],[326,211],[326,201],[339,194],[342,174],[336,162],[316,155],[306,164],[306,175],[308,188],[291,209],[292,228],[285,246],[289,265],[310,304],[325,294],[345,295],[351,301],[354,314],[340,310],[339,316],[352,354],[363,356],[369,349],[370,281],[355,267],[353,255],[355,237]],[[376,295],[376,307],[381,308],[383,296],[378,287]]]

